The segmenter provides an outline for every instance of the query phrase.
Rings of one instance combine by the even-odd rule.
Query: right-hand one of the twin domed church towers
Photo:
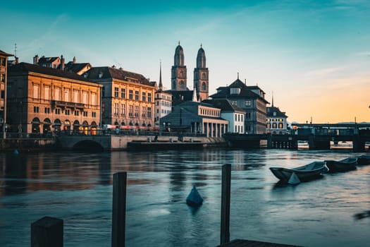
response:
[[[197,90],[199,102],[208,99],[208,68],[206,68],[206,53],[202,48],[202,44],[197,54],[197,68],[194,68],[194,90]]]

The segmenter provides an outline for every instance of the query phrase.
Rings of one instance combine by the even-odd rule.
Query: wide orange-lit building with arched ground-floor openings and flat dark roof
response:
[[[101,85],[75,73],[20,63],[8,68],[9,132],[94,133]]]

